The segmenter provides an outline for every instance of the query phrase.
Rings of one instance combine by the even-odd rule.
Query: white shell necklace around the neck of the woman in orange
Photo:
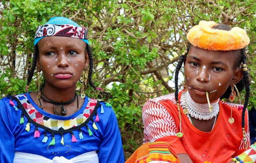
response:
[[[194,102],[190,97],[189,92],[184,91],[181,94],[180,105],[182,108],[188,109],[188,114],[190,114],[191,117],[199,120],[210,120],[213,117],[216,117],[218,115],[218,112],[220,111],[220,105],[218,104],[219,100],[220,99],[218,99],[216,102],[214,101],[214,103],[211,103],[212,112],[210,112],[208,104],[198,104]]]

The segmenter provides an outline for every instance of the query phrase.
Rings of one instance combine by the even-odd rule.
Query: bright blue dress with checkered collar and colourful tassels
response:
[[[99,163],[124,162],[113,109],[88,97],[81,109],[65,117],[38,108],[29,93],[5,97],[0,100],[0,131],[1,163],[12,163],[15,151],[48,159],[97,151]]]

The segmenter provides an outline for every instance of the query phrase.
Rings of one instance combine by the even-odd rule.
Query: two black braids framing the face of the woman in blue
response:
[[[91,80],[92,70],[93,70],[93,58],[92,58],[92,53],[91,53],[91,47],[88,44],[86,44],[86,51],[88,52],[88,58],[89,58],[88,82],[89,82],[89,84],[91,85],[92,88],[96,89],[96,87],[94,86],[94,83]],[[29,83],[31,82],[32,77],[34,75],[38,55],[39,55],[39,49],[38,49],[38,45],[36,45],[34,47],[32,66],[31,66],[31,69],[28,71],[27,87],[28,87]]]

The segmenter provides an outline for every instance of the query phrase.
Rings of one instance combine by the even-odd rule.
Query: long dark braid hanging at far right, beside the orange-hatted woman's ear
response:
[[[245,56],[245,48],[241,49],[241,57],[242,57],[242,62],[243,65],[246,64],[246,56]],[[243,66],[242,66],[243,68]],[[244,100],[244,108],[243,108],[243,112],[242,112],[242,129],[243,129],[243,138],[244,138],[244,146],[245,149],[247,149],[247,140],[245,137],[245,130],[244,130],[244,125],[245,125],[245,110],[247,108],[248,105],[248,101],[249,101],[249,96],[250,96],[250,80],[249,80],[249,74],[247,70],[243,70],[243,75],[244,75],[244,84],[245,84],[245,100]]]

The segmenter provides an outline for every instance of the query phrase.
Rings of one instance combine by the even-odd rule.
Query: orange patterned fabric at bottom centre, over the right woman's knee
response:
[[[180,163],[172,147],[165,142],[149,142],[143,144],[125,163],[149,163],[151,161]]]

